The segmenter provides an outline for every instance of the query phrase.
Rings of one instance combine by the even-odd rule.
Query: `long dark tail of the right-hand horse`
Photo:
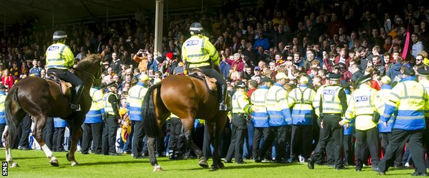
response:
[[[151,138],[159,138],[162,135],[161,129],[157,125],[157,117],[155,114],[155,104],[153,98],[153,90],[157,90],[157,97],[159,97],[159,92],[161,89],[162,82],[155,84],[148,88],[146,95],[144,96],[143,101],[143,125],[146,136]],[[156,99],[155,98],[155,99]]]

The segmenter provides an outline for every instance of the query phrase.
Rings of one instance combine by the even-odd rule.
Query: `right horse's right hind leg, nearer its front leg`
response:
[[[181,135],[181,137],[185,137],[186,139],[186,143],[188,143],[188,146],[190,147],[190,149],[192,149],[192,151],[194,151],[194,153],[197,155],[197,157],[199,158],[199,166],[203,167],[203,168],[208,168],[208,163],[207,163],[207,159],[206,157],[204,157],[203,155],[203,151],[201,151],[201,149],[199,149],[197,147],[197,144],[195,144],[195,142],[192,140],[192,128],[194,127],[194,118],[190,117],[190,118],[180,118],[181,119],[181,123],[184,127],[184,135]]]

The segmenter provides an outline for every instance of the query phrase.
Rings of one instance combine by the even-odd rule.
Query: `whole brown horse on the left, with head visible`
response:
[[[26,77],[12,87],[5,100],[5,116],[8,125],[5,131],[5,150],[6,161],[11,167],[18,166],[12,160],[10,147],[12,147],[14,136],[17,133],[17,125],[21,123],[26,114],[32,116],[35,125],[33,136],[41,145],[45,155],[50,158],[52,166],[59,166],[59,164],[56,157],[52,155],[52,151],[43,142],[43,127],[45,127],[48,116],[67,120],[72,130],[72,144],[67,153],[67,160],[72,162],[72,166],[78,164],[74,158],[74,152],[81,136],[80,127],[85,120],[85,114],[91,107],[89,89],[101,75],[101,60],[100,55],[89,55],[74,68],[76,76],[82,79],[85,85],[83,94],[80,96],[80,111],[78,112],[69,109],[69,97],[62,94],[58,84],[54,81],[40,77]]]

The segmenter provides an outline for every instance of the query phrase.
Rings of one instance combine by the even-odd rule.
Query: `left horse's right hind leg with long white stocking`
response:
[[[34,118],[34,130],[33,130],[33,136],[36,138],[39,145],[42,147],[43,151],[45,152],[46,157],[50,158],[50,163],[52,166],[60,166],[58,164],[58,160],[56,160],[56,157],[52,154],[51,149],[47,147],[45,142],[43,141],[43,128],[45,127],[46,123],[46,116],[40,114],[39,116],[32,116]]]

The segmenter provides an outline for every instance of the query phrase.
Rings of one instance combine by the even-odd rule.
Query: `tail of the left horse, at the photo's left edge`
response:
[[[17,116],[12,112],[12,107],[21,107],[18,101],[18,86],[12,87],[5,100],[5,117],[8,125],[9,147],[14,145],[15,134],[17,133]]]

